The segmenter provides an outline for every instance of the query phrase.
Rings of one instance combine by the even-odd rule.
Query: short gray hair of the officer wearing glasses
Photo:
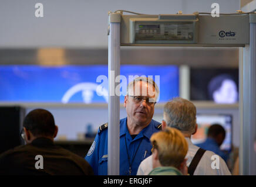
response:
[[[155,92],[156,92],[156,98],[155,99],[157,101],[157,99],[159,97],[159,87],[157,86],[156,82],[154,82],[154,80],[150,77],[134,78],[133,81],[130,81],[128,86],[127,86],[126,95],[133,95],[134,86],[135,86],[136,82],[139,82],[139,81],[147,82],[147,84],[154,86],[154,89],[155,89]]]

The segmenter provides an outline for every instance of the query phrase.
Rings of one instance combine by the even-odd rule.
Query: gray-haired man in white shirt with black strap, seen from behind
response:
[[[187,167],[190,175],[231,175],[225,161],[212,151],[195,146],[190,138],[197,131],[196,106],[182,98],[174,98],[164,105],[162,129],[174,127],[183,133],[188,143]],[[153,169],[152,156],[142,161],[137,175],[148,175]]]

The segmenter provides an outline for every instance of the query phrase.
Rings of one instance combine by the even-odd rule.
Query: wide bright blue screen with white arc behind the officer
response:
[[[107,93],[107,65],[1,65],[0,102],[106,103],[107,96],[96,92],[98,85]],[[121,65],[120,75],[159,77],[159,102],[178,96],[178,67],[175,65]],[[123,88],[126,90],[126,88]],[[120,96],[120,102],[124,96]]]

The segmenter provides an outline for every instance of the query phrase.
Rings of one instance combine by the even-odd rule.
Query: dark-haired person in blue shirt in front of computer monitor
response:
[[[225,129],[220,124],[213,124],[209,127],[207,139],[201,144],[197,144],[205,150],[213,151],[213,153],[220,155],[225,162],[227,162],[227,154],[220,150],[220,146],[225,139]]]

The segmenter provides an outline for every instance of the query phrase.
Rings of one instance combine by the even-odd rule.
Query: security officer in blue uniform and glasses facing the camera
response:
[[[159,88],[151,78],[138,77],[127,86],[127,117],[120,120],[120,175],[136,175],[140,162],[151,155],[150,137],[161,128],[161,123],[152,119],[158,96]],[[107,158],[105,123],[99,127],[85,159],[95,175],[107,175]]]

